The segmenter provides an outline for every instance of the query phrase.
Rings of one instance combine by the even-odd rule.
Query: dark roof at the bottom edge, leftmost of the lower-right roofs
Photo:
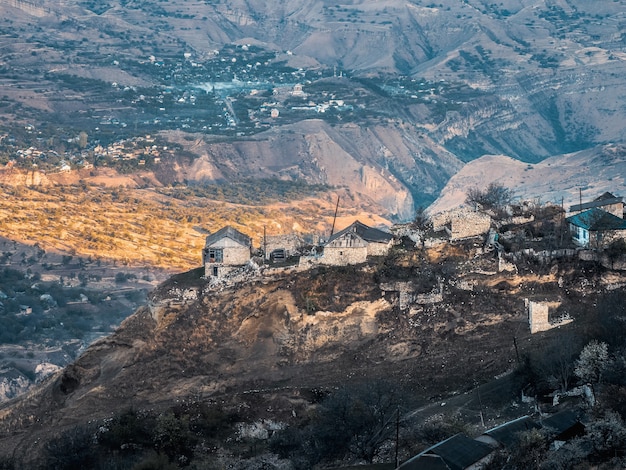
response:
[[[410,458],[398,470],[478,470],[492,453],[484,442],[456,434]]]

